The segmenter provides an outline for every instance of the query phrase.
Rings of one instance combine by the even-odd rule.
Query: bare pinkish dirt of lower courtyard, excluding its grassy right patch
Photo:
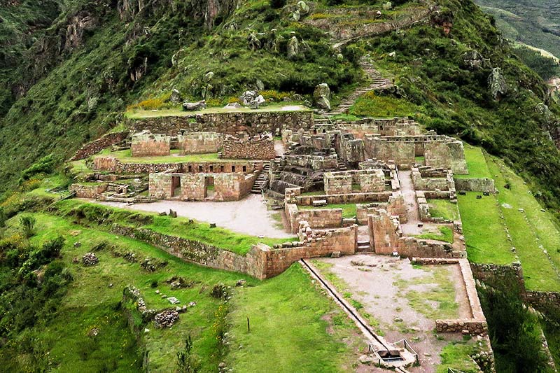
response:
[[[384,338],[390,343],[404,338],[412,345],[419,354],[420,366],[408,367],[409,372],[435,372],[435,365],[440,363],[443,347],[450,341],[461,339],[461,335],[445,335],[444,340],[437,339],[433,333],[435,320],[419,312],[417,306],[412,307],[405,297],[408,291],[421,294],[436,286],[429,281],[416,285],[414,280],[429,279],[432,274],[443,271],[444,274],[449,274],[449,283],[453,283],[455,287],[457,316],[471,317],[458,265],[415,268],[408,259],[361,254],[342,258],[321,258],[320,261],[332,265],[328,271],[342,279],[353,299],[363,304],[367,314],[372,315],[370,324],[377,324],[372,325],[374,330],[383,332]],[[353,265],[352,262],[360,265]],[[366,371],[377,370],[360,370]],[[384,370],[379,370],[381,371]]]

